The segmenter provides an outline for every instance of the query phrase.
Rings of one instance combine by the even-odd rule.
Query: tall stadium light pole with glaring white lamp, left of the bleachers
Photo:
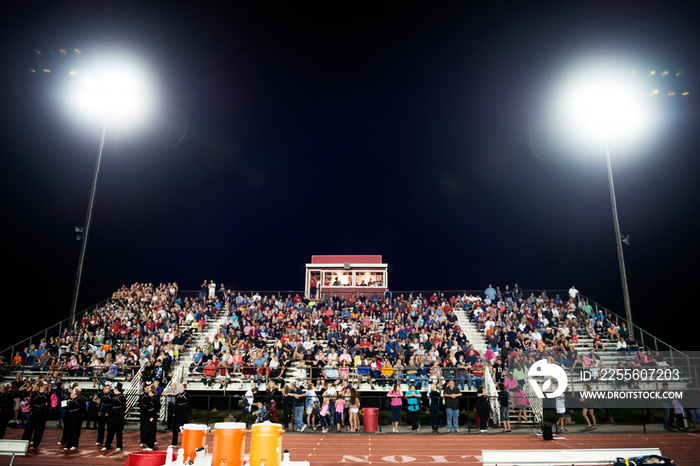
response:
[[[147,80],[143,77],[142,72],[135,70],[133,63],[124,60],[98,63],[94,65],[92,70],[88,69],[86,73],[82,74],[76,73],[75,76],[73,88],[68,93],[69,103],[77,109],[77,112],[82,117],[100,121],[102,129],[97,149],[97,162],[90,187],[87,215],[83,227],[78,270],[73,288],[70,313],[71,326],[75,322],[78,308],[78,297],[83,278],[90,227],[95,210],[97,180],[102,164],[107,127],[138,124],[148,116],[148,110],[152,103],[152,93],[148,89]]]

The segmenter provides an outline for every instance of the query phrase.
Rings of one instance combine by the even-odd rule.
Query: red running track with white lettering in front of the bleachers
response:
[[[19,439],[21,430],[8,430],[5,438]],[[25,457],[16,457],[15,465],[124,465],[130,451],[141,451],[138,433],[124,433],[124,452],[102,452],[95,446],[95,431],[83,431],[81,447],[63,451],[57,445],[58,429],[47,429],[41,448],[30,450]],[[171,435],[161,432],[159,449],[165,450]],[[246,444],[250,436],[246,436]],[[213,444],[213,434],[207,443]],[[308,461],[311,466],[337,464],[392,465],[409,463],[415,466],[439,464],[481,465],[482,450],[525,449],[590,449],[657,447],[665,456],[681,466],[700,464],[700,434],[668,432],[658,434],[575,434],[544,441],[535,434],[348,434],[287,433],[282,444],[290,451],[292,461]],[[246,445],[246,451],[248,445]],[[0,457],[0,465],[9,464],[9,457]]]

